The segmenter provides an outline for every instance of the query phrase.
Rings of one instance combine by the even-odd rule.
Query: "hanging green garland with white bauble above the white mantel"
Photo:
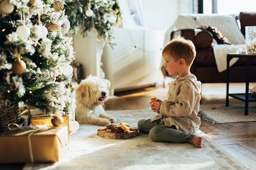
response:
[[[113,29],[121,24],[123,15],[118,0],[69,0],[66,3],[64,8],[74,34],[82,28],[83,36],[87,36],[95,29],[113,48]]]

